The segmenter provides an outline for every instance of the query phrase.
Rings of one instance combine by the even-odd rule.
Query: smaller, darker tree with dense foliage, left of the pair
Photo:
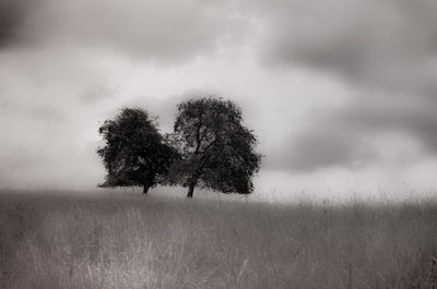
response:
[[[139,108],[123,108],[114,120],[98,129],[106,145],[97,149],[107,176],[99,186],[143,186],[143,193],[156,185],[178,158],[156,129],[155,119]]]

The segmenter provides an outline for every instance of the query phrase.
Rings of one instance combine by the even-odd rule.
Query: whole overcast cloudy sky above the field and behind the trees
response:
[[[434,0],[0,0],[0,186],[94,190],[121,107],[216,95],[264,197],[436,194]]]

